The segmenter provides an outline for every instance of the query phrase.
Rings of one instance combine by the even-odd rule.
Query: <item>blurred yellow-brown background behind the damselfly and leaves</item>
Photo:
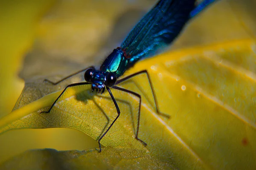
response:
[[[98,65],[156,0],[1,0],[0,117],[24,82]],[[254,38],[255,0],[219,0],[193,19],[170,50]],[[0,163],[28,149],[84,150],[98,143],[73,129],[23,129],[0,135]]]

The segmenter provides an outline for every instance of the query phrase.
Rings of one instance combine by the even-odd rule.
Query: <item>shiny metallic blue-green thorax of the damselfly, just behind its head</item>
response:
[[[115,73],[118,78],[128,69],[129,61],[130,59],[126,56],[125,50],[116,48],[105,59],[100,67],[100,71]]]

